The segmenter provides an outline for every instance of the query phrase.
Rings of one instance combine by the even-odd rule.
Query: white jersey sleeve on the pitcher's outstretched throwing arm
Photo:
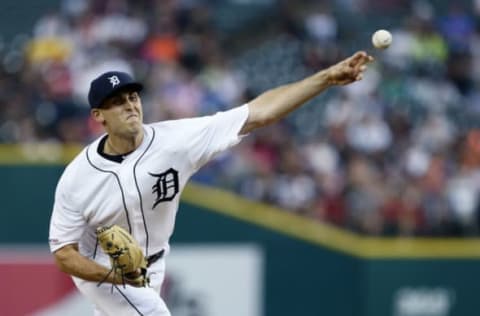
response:
[[[217,153],[240,142],[240,130],[248,118],[248,105],[215,115],[197,118],[187,138],[188,157],[194,170],[199,169]]]

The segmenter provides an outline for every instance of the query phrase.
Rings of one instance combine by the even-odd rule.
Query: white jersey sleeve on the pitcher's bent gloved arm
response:
[[[78,243],[85,227],[86,221],[81,210],[74,207],[72,195],[69,194],[65,182],[60,180],[50,219],[50,251],[53,253],[66,245]]]

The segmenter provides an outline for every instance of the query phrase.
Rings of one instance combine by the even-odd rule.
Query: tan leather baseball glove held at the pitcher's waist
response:
[[[97,228],[98,243],[109,255],[112,269],[105,276],[103,283],[113,272],[115,282],[123,285],[148,286],[146,276],[147,261],[138,242],[125,229],[118,225]]]

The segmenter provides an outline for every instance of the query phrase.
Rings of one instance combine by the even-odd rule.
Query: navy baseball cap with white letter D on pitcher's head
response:
[[[126,72],[105,72],[90,83],[88,103],[92,109],[100,108],[106,99],[120,90],[142,91],[142,89],[143,85]]]

